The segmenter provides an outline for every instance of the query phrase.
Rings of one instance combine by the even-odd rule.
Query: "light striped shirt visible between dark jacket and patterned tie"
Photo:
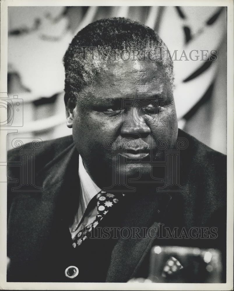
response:
[[[91,224],[98,214],[96,199],[93,199],[101,189],[94,183],[86,172],[81,156],[79,155],[80,200],[78,211],[73,224],[70,226],[72,239],[82,230],[83,225]],[[92,201],[91,201],[92,200]],[[91,202],[91,203],[90,203]]]

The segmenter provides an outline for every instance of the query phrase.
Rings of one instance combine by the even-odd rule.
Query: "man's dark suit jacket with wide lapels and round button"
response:
[[[139,236],[87,239],[76,249],[71,246],[68,229],[78,208],[80,189],[78,152],[72,136],[46,141],[35,150],[35,165],[31,165],[35,166],[34,185],[43,187],[43,191],[12,190],[20,185],[22,171],[14,163],[22,158],[20,150],[11,150],[8,177],[18,182],[8,183],[7,249],[11,265],[7,280],[126,282],[132,277],[147,277],[150,249],[156,244],[218,248],[224,254],[225,268],[226,156],[181,130],[179,136],[189,142],[180,156],[180,184],[188,191],[152,195],[146,189],[142,195],[126,195],[124,203],[119,203],[98,226],[138,227]],[[25,145],[23,149],[29,148]],[[216,227],[218,236],[142,238],[143,228],[157,228],[159,223],[170,230]],[[94,237],[98,235],[94,233]],[[79,267],[74,279],[64,275],[69,265]]]

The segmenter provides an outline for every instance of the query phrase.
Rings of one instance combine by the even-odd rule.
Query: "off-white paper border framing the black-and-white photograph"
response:
[[[27,283],[6,282],[6,183],[0,183],[0,289],[4,290],[231,290],[233,288],[233,1],[144,1],[143,6],[227,6],[227,281],[226,283]],[[142,1],[98,1],[98,6],[142,6]],[[7,92],[7,44],[9,6],[97,6],[91,0],[3,0],[1,1],[0,92]],[[2,116],[6,118],[6,116]],[[5,119],[4,119],[5,120]],[[4,128],[3,128],[4,129]],[[2,129],[1,129],[2,131]],[[0,137],[2,136],[0,132]],[[0,154],[6,148],[0,139]],[[5,175],[0,167],[0,175]]]

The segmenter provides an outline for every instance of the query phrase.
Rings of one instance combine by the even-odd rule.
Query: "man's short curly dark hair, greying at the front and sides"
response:
[[[153,29],[131,19],[113,17],[88,24],[73,38],[63,58],[65,103],[69,97],[77,97],[81,88],[92,83],[95,75],[105,68],[107,62],[113,61],[107,58],[107,52],[117,52],[114,61],[118,61],[120,56],[123,58],[123,51],[125,54],[137,51],[142,55],[142,52],[146,51],[155,52],[159,47],[163,48],[163,54],[170,56],[165,43]],[[87,48],[92,54],[86,54]],[[161,61],[166,77],[173,88],[171,57],[157,59],[157,61]]]

